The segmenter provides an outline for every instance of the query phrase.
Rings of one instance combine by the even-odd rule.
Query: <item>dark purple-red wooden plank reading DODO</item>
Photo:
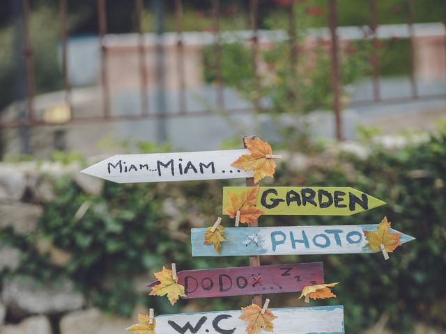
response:
[[[300,292],[307,285],[324,283],[322,262],[187,270],[177,276],[186,299]]]

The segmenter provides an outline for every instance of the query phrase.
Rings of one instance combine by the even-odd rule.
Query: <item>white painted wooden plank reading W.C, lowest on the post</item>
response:
[[[275,334],[344,334],[344,307],[272,308]],[[156,333],[246,334],[241,310],[184,313],[155,317]],[[259,334],[269,332],[259,331]]]

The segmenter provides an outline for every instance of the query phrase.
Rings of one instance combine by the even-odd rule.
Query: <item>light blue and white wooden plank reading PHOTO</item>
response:
[[[305,255],[374,253],[366,248],[364,231],[378,225],[293,226],[275,228],[226,228],[221,253],[205,245],[206,228],[192,228],[192,256]],[[391,232],[398,232],[391,229]],[[415,238],[401,234],[404,244]]]

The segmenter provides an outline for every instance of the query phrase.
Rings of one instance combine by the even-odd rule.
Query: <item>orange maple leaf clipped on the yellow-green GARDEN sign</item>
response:
[[[264,213],[254,206],[258,191],[259,186],[254,186],[252,189],[243,191],[240,197],[229,191],[229,205],[224,208],[224,213],[229,214],[231,218],[236,218],[237,212],[240,211],[240,223],[254,223]]]

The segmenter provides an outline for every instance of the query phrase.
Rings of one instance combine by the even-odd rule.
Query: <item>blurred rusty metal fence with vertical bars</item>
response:
[[[30,15],[30,0],[22,0],[22,17],[23,17],[23,26],[24,26],[24,57],[26,59],[26,117],[20,118],[20,120],[9,120],[9,121],[0,121],[0,128],[8,128],[8,127],[33,127],[36,125],[47,125],[43,120],[36,117],[35,106],[34,106],[34,97],[35,97],[35,89],[34,89],[34,65],[33,65],[33,48],[32,41],[30,37],[29,31],[29,15]],[[97,0],[95,3],[98,6],[98,30],[100,33],[100,42],[101,42],[101,75],[100,81],[102,86],[102,114],[100,116],[82,116],[77,118],[76,116],[72,116],[70,122],[102,122],[102,121],[110,121],[110,120],[139,120],[143,118],[167,118],[167,117],[185,117],[190,115],[190,111],[187,109],[186,103],[186,83],[185,83],[185,61],[184,61],[184,42],[183,42],[183,2],[186,0],[171,0],[170,5],[174,6],[174,16],[176,22],[176,71],[178,72],[178,87],[179,87],[179,95],[178,95],[178,104],[177,104],[177,112],[176,113],[163,113],[160,112],[165,109],[165,97],[164,94],[164,74],[163,74],[163,57],[162,57],[162,44],[159,43],[157,45],[157,62],[159,62],[157,66],[157,95],[156,95],[156,104],[157,104],[157,112],[153,112],[149,110],[148,106],[148,79],[147,79],[147,64],[146,64],[146,56],[145,56],[145,48],[144,48],[144,31],[142,25],[142,15],[144,10],[144,0],[134,0],[135,8],[136,8],[136,20],[137,20],[137,33],[138,33],[138,54],[139,54],[139,73],[140,73],[140,94],[141,94],[141,113],[138,115],[116,115],[110,112],[110,89],[109,89],[109,68],[107,64],[107,47],[104,43],[105,36],[107,35],[107,0]],[[221,39],[221,31],[220,31],[220,13],[221,13],[221,0],[211,0],[212,2],[212,15],[213,15],[213,29],[212,33],[214,36],[213,40],[213,52],[215,53],[215,94],[217,106],[219,109],[225,110],[230,113],[238,113],[246,110],[241,109],[227,109],[225,108],[226,103],[224,100],[224,80],[222,76],[222,39]],[[335,127],[336,127],[336,135],[337,138],[342,138],[342,129],[341,129],[341,110],[346,107],[342,105],[341,102],[341,77],[339,72],[339,52],[340,52],[340,42],[338,35],[338,14],[337,14],[337,0],[326,0],[327,1],[327,10],[328,10],[328,28],[330,31],[330,58],[331,58],[331,86],[333,92],[333,100],[332,100],[332,110],[334,111],[335,118]],[[412,100],[423,100],[423,99],[433,99],[433,98],[443,98],[446,97],[445,94],[436,94],[436,95],[422,95],[418,90],[418,82],[415,76],[415,60],[414,60],[414,42],[415,42],[415,31],[414,31],[414,0],[407,0],[406,6],[408,8],[408,17],[407,17],[407,29],[408,29],[408,38],[410,40],[410,59],[411,59],[411,69],[410,69],[410,96],[406,97],[398,97],[398,98],[385,98],[382,96],[380,92],[380,67],[379,67],[379,55],[376,47],[371,49],[371,67],[373,73],[373,98],[370,100],[362,100],[355,101],[357,105],[367,105],[367,104],[376,104],[376,103],[400,103]],[[166,1],[164,0],[155,0],[155,17],[156,19],[156,33],[157,35],[162,35],[163,31],[163,22],[162,17],[164,16],[163,7],[166,5]],[[275,1],[277,2],[277,1]],[[287,24],[289,26],[288,29],[288,42],[289,48],[291,50],[291,62],[297,63],[298,61],[298,40],[296,37],[296,19],[294,13],[294,6],[299,6],[301,1],[299,0],[282,0],[286,6],[289,6],[289,16],[287,17]],[[369,11],[370,11],[370,22],[364,22],[364,25],[369,26],[369,31],[371,34],[371,39],[374,45],[378,42],[378,13],[377,13],[377,0],[369,0]],[[444,11],[444,19],[443,24],[445,27],[445,46],[446,46],[446,0],[443,1],[444,6],[441,10]],[[66,96],[66,104],[68,106],[72,105],[71,101],[71,87],[70,80],[68,78],[68,6],[67,0],[60,0],[60,21],[61,21],[61,51],[62,51],[62,73],[63,73],[63,81],[64,81],[64,89]],[[254,70],[254,77],[256,78],[255,89],[257,92],[260,90],[259,84],[259,68],[258,61],[256,59],[259,57],[259,0],[249,0],[249,21],[251,24],[251,47],[252,47],[252,68]],[[445,47],[446,53],[446,47]],[[445,56],[446,58],[446,56]],[[439,69],[442,70],[442,69]],[[443,71],[446,72],[446,63]],[[256,99],[254,101],[255,109],[261,108],[261,101],[259,99],[259,94],[256,94]],[[203,110],[202,114],[212,113],[210,110]],[[197,112],[193,113],[197,115]]]

